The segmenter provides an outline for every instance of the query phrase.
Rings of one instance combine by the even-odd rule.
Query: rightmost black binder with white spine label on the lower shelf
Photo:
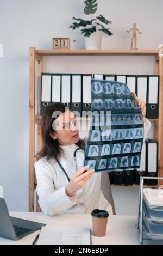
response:
[[[147,177],[158,177],[158,142],[147,141]],[[158,180],[147,180],[147,185],[157,185]]]

